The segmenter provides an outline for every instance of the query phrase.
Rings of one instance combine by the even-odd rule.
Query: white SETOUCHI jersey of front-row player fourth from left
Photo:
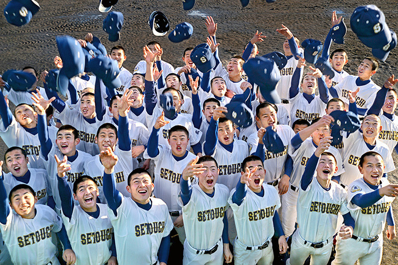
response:
[[[181,195],[178,202],[183,209],[183,219],[187,241],[197,250],[207,250],[220,240],[224,224],[224,214],[228,205],[228,188],[216,183],[214,196],[210,197],[198,184],[192,185],[190,201],[184,205]]]

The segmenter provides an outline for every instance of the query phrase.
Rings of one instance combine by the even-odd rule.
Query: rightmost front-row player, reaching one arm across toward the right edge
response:
[[[392,202],[398,195],[398,185],[382,177],[383,157],[374,151],[364,153],[359,162],[362,178],[348,186],[348,209],[355,220],[352,238],[337,237],[336,258],[333,265],[380,265],[383,254],[383,231],[387,219],[386,236],[396,236]]]

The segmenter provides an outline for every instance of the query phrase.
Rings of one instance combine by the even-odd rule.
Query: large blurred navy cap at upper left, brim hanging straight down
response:
[[[57,91],[65,96],[69,79],[84,72],[85,55],[80,43],[71,36],[58,36],[56,41],[63,64],[57,77]]]

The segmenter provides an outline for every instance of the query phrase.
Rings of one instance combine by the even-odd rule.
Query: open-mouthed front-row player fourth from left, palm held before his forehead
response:
[[[221,265],[232,261],[226,207],[228,188],[218,184],[217,161],[208,155],[192,159],[184,169],[179,204],[183,209],[184,265]],[[191,185],[190,179],[198,177]],[[222,247],[222,248],[221,248]]]

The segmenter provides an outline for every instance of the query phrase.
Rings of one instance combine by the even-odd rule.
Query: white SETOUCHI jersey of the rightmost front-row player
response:
[[[390,184],[385,177],[381,178],[380,181],[380,187]],[[354,235],[357,237],[366,239],[374,238],[384,231],[387,213],[395,197],[383,196],[380,200],[367,208],[360,208],[351,202],[355,195],[366,194],[373,191],[375,190],[371,189],[368,184],[366,184],[364,178],[359,178],[348,186],[348,209],[350,210],[352,218],[355,220]]]

